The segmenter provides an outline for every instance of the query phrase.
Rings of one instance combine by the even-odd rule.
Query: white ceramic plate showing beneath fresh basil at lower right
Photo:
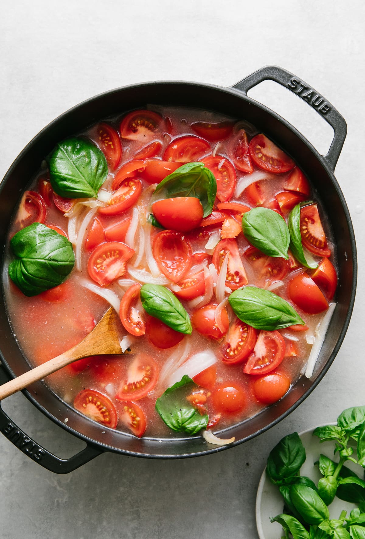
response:
[[[317,427],[299,433],[307,455],[303,466],[300,468],[300,475],[306,475],[317,485],[322,475],[319,472],[318,466],[314,466],[314,462],[319,460],[319,455],[322,453],[335,461],[338,460],[338,456],[334,457],[333,455],[333,441],[320,444],[319,438],[312,436],[315,428]],[[354,472],[359,473],[359,466],[356,466],[353,462],[347,461],[346,466]],[[279,493],[279,489],[276,485],[272,485],[266,475],[265,468],[258,483],[256,497],[256,526],[260,539],[280,539],[283,536],[283,528],[280,524],[278,522],[270,522],[270,517],[282,513],[283,507],[284,501]],[[335,497],[329,506],[330,518],[338,519],[343,509],[349,513],[354,507],[355,505],[353,503],[344,502]]]

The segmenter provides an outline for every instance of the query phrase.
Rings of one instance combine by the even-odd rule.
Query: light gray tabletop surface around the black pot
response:
[[[89,96],[148,80],[229,86],[277,64],[344,116],[336,177],[353,218],[359,285],[345,342],[319,387],[262,436],[198,459],[151,461],[104,454],[66,476],[45,471],[0,438],[0,537],[255,538],[255,495],[270,448],[293,430],[364,404],[363,2],[8,2],[2,8],[0,177],[55,116]],[[325,153],[330,130],[272,83],[251,96],[283,114]],[[4,409],[61,457],[80,443],[23,395]],[[81,444],[82,445],[82,444]]]

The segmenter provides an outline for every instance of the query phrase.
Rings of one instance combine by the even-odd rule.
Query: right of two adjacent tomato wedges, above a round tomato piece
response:
[[[285,341],[278,331],[260,331],[254,351],[244,366],[245,374],[266,374],[283,361]]]

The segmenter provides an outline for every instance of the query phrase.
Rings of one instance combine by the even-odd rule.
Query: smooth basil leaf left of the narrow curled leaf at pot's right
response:
[[[276,211],[252,208],[242,217],[242,230],[250,244],[269,257],[289,258],[289,230],[283,217]]]

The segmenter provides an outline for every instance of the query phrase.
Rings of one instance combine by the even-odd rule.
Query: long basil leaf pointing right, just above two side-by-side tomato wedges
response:
[[[273,331],[305,322],[280,296],[263,288],[244,286],[229,295],[229,304],[240,320],[254,327]]]

